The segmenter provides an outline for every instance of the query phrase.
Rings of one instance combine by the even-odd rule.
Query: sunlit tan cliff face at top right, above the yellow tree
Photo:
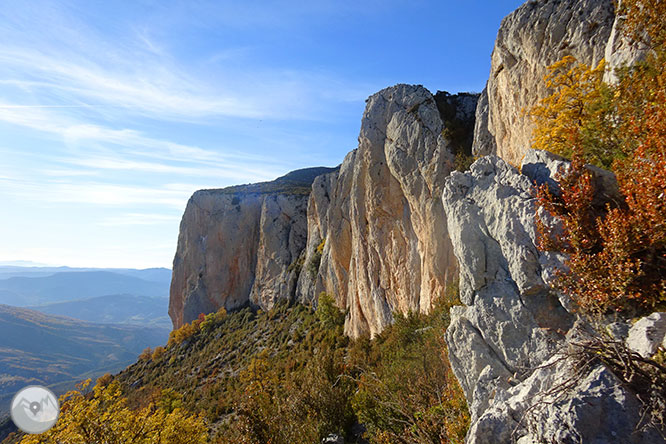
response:
[[[482,111],[477,115],[475,139],[481,143],[475,144],[475,152],[520,164],[532,137],[527,112],[547,94],[547,67],[565,55],[588,65],[599,63],[614,21],[612,0],[530,0],[509,14],[492,53],[487,117]]]

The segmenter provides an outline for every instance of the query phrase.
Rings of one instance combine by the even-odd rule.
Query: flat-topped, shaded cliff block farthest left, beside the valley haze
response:
[[[293,297],[289,265],[307,236],[314,177],[330,168],[292,172],[274,182],[197,191],[180,224],[169,315],[174,327],[220,307],[270,308]]]

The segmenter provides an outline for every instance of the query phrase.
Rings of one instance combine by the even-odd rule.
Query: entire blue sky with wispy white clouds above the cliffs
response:
[[[521,1],[3,1],[0,262],[170,267],[189,196],[334,166],[396,83],[481,91]]]

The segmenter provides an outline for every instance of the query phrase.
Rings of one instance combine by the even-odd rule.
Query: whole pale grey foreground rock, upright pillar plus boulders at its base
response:
[[[664,442],[634,431],[641,404],[608,369],[579,371],[561,354],[585,326],[549,285],[562,258],[535,247],[533,183],[551,183],[562,162],[530,151],[521,174],[487,156],[446,180],[464,304],[451,310],[446,340],[470,406],[466,442]]]

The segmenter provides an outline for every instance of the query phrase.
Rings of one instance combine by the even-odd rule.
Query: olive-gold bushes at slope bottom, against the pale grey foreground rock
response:
[[[431,314],[396,314],[373,341],[354,342],[350,355],[361,371],[352,405],[371,443],[464,442],[469,413],[444,342],[455,291]]]

